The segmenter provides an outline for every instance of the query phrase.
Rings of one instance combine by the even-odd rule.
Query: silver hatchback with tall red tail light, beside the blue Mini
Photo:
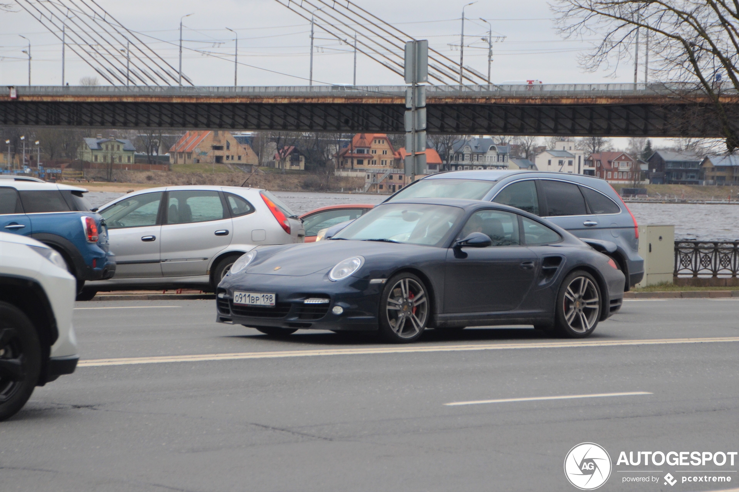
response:
[[[117,269],[110,280],[86,283],[86,290],[215,291],[242,254],[261,244],[302,243],[305,236],[297,215],[259,188],[153,188],[123,195],[99,213]]]

